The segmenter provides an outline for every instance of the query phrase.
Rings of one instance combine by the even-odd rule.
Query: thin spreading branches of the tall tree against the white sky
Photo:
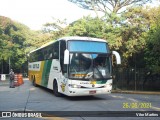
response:
[[[110,16],[110,13],[124,12],[126,7],[143,5],[151,0],[69,0],[77,4],[79,7],[94,11],[101,11],[105,15]]]

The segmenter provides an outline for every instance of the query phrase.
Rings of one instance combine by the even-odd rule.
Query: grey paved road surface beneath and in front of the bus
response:
[[[0,111],[160,111],[160,95],[112,93],[88,97],[55,97],[51,90],[33,87],[25,79],[24,84],[16,88],[9,88],[5,82],[0,84]],[[142,117],[97,118],[77,116],[36,119],[137,120],[142,119]],[[158,120],[160,116],[143,117],[143,119]]]

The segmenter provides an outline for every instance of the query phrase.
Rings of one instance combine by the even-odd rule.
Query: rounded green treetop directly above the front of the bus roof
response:
[[[67,35],[103,38],[104,25],[104,21],[99,18],[83,17],[70,24]]]

